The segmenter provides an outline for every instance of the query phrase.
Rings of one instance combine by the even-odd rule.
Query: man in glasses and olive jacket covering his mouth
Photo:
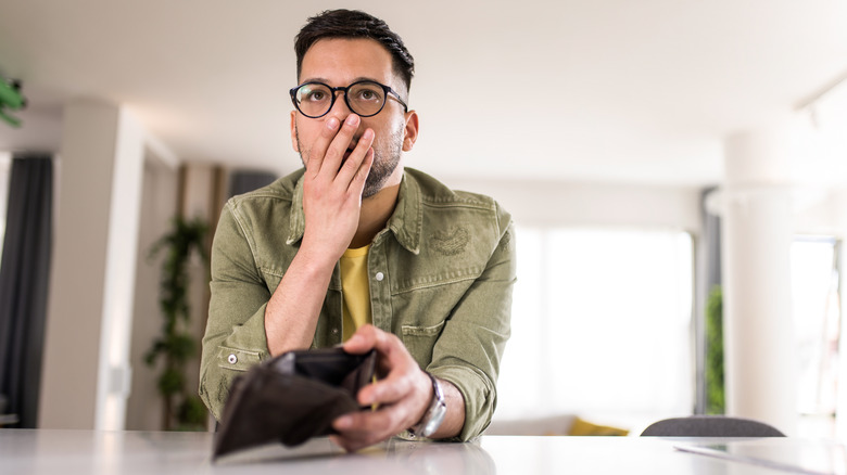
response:
[[[384,22],[324,12],[295,50],[291,138],[305,169],[222,213],[200,395],[219,419],[239,372],[343,342],[353,354],[376,349],[382,377],[358,394],[379,409],[337,419],[337,444],[468,440],[496,405],[511,218],[403,166],[419,127],[406,105],[414,62]]]

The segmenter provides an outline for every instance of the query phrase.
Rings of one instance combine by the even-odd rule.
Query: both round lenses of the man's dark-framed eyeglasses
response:
[[[321,116],[332,107],[333,94],[326,85],[307,82],[296,90],[298,108],[311,117]],[[345,99],[352,112],[369,116],[379,113],[385,104],[385,91],[377,82],[362,81],[347,88]]]

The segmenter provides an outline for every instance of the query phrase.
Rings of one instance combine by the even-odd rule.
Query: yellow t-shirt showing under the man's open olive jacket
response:
[[[370,287],[368,286],[368,251],[370,245],[347,249],[341,256],[342,337],[346,342],[356,329],[372,323],[370,314]]]

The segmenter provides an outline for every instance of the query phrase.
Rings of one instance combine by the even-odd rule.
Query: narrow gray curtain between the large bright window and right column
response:
[[[695,348],[697,363],[696,414],[706,413],[706,303],[709,293],[721,284],[721,218],[706,209],[706,200],[716,188],[705,189],[700,194],[701,234],[697,246],[698,265],[695,292]]]

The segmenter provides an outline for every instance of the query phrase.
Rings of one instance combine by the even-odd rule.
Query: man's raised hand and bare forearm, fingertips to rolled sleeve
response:
[[[359,124],[355,114],[343,125],[330,117],[312,147],[301,150],[306,228],[265,309],[265,336],[274,356],[312,344],[332,269],[358,227],[362,190],[374,163],[374,130],[366,129],[354,143]]]

